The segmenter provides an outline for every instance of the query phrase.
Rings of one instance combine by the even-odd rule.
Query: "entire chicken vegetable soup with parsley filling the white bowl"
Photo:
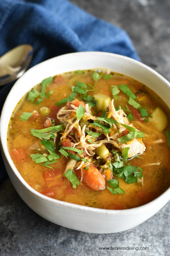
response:
[[[141,206],[170,185],[170,110],[152,90],[109,71],[44,79],[18,103],[8,150],[25,181],[61,201]]]

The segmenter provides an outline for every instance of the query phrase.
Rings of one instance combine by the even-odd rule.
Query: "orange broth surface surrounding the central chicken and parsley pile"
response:
[[[83,74],[71,72],[55,76],[53,81],[46,87],[46,93],[50,91],[53,91],[53,93],[39,105],[36,105],[35,102],[40,96],[35,99],[35,102],[30,102],[27,100],[27,95],[24,96],[16,106],[9,123],[7,141],[10,156],[18,172],[33,189],[54,199],[104,209],[127,209],[144,205],[161,195],[170,186],[170,148],[168,148],[165,131],[157,131],[149,121],[141,121],[135,118],[135,116],[133,116],[134,120],[130,121],[136,129],[145,133],[145,138],[142,139],[146,150],[143,154],[139,155],[140,159],[134,157],[128,161],[128,164],[136,167],[140,166],[144,171],[142,172],[143,178],[138,179],[137,183],[131,184],[113,175],[113,179],[118,179],[119,187],[126,192],[123,194],[112,194],[107,189],[107,186],[109,186],[107,181],[105,188],[101,191],[90,189],[84,182],[80,182],[80,184],[76,186],[76,189],[74,189],[71,182],[63,175],[68,159],[58,153],[58,137],[56,139],[56,153],[59,154],[60,158],[57,159],[56,163],[50,165],[54,168],[57,173],[56,175],[61,174],[58,176],[58,183],[53,183],[51,180],[48,182],[47,176],[53,174],[53,169],[42,166],[42,163],[35,164],[30,157],[30,154],[37,153],[37,150],[31,149],[30,146],[40,141],[39,138],[30,134],[30,129],[45,128],[44,122],[47,119],[46,116],[39,113],[40,108],[43,106],[48,107],[50,109],[48,117],[55,120],[55,125],[59,125],[56,114],[62,106],[58,107],[55,104],[59,100],[69,97],[72,92],[71,87],[75,85],[75,81],[95,85],[95,91],[88,92],[88,95],[93,96],[99,93],[108,95],[111,99],[114,97],[115,108],[120,105],[128,115],[126,111],[128,96],[122,91],[120,91],[118,95],[112,96],[110,90],[112,85],[126,84],[138,97],[141,108],[146,108],[148,115],[151,115],[156,107],[160,107],[166,113],[168,117],[166,130],[170,130],[169,108],[158,95],[144,84],[118,73],[112,73],[113,76],[110,79],[105,80],[102,77],[95,82],[92,79],[92,73],[93,71],[84,71]],[[41,85],[38,85],[35,88],[41,91],[41,87]],[[77,94],[77,98],[82,100],[79,94]],[[26,121],[20,121],[19,117],[23,112],[33,112],[35,110],[37,111],[37,115],[32,115]],[[98,115],[100,116],[101,113],[98,113]],[[159,141],[160,139],[162,139],[162,143],[155,143],[155,141]],[[151,165],[157,162],[160,164]],[[80,179],[80,173],[75,171],[75,174]]]

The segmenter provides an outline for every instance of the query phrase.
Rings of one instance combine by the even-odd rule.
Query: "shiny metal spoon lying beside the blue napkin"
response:
[[[0,57],[0,86],[21,77],[33,57],[33,47],[22,44]]]

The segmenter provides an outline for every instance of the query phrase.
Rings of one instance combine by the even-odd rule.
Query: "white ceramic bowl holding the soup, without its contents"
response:
[[[141,224],[160,210],[170,199],[170,188],[150,203],[127,210],[105,210],[62,202],[46,197],[31,188],[15,168],[7,149],[10,116],[26,92],[46,77],[78,69],[93,68],[111,69],[139,80],[160,95],[170,108],[170,83],[156,71],[138,61],[104,52],[61,55],[29,69],[12,87],[1,114],[1,152],[16,191],[37,214],[58,225],[84,232],[121,232]]]

